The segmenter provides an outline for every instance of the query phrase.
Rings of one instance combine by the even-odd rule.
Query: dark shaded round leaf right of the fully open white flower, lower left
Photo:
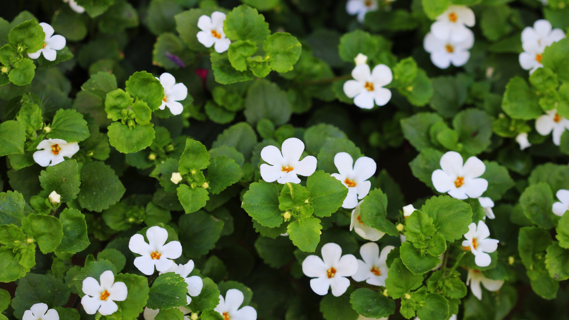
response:
[[[203,210],[181,216],[178,228],[184,255],[199,258],[215,248],[223,225],[223,221]]]

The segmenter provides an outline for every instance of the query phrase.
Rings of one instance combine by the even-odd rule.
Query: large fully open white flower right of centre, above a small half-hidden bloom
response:
[[[470,157],[464,163],[460,153],[448,151],[440,158],[440,167],[431,175],[432,184],[436,191],[448,192],[448,195],[456,199],[478,198],[486,188],[488,181],[478,178],[486,166],[479,158]]]

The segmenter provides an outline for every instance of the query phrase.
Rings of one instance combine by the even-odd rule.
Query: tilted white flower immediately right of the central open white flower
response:
[[[358,199],[364,199],[372,187],[368,181],[376,173],[376,162],[372,158],[360,157],[354,161],[352,156],[346,152],[336,153],[334,165],[339,173],[331,174],[332,177],[340,180],[348,188],[348,195],[342,204],[343,208],[352,209],[357,206]]]

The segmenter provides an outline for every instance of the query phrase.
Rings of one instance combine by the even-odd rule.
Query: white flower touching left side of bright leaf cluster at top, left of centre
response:
[[[207,48],[215,44],[215,51],[219,54],[227,51],[231,44],[231,40],[225,38],[225,32],[223,32],[224,21],[225,14],[219,11],[212,13],[211,18],[202,15],[197,20],[197,27],[202,30],[197,32],[197,40]]]

